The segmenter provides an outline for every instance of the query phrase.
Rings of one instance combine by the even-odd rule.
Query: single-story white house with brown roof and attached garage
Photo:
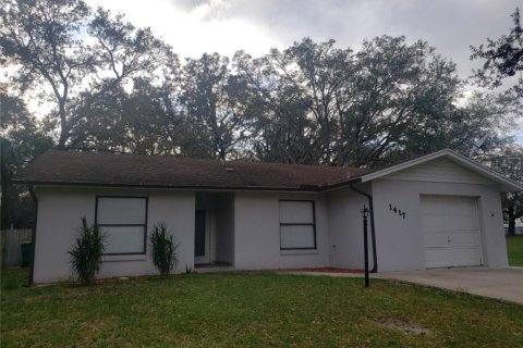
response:
[[[49,150],[16,183],[37,201],[35,283],[71,277],[81,217],[107,234],[100,277],[155,274],[148,235],[166,223],[175,272],[507,266],[500,192],[523,186],[451,150],[382,170]]]

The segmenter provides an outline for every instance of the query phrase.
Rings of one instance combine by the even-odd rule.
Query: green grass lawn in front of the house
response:
[[[362,282],[236,273],[2,289],[0,346],[523,347],[522,306]]]

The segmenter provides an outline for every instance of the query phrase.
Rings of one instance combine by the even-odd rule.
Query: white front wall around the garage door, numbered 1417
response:
[[[496,185],[378,179],[373,182],[378,272],[425,269],[421,195],[476,198],[484,264],[508,265],[501,199]],[[389,204],[405,212],[405,219],[390,211]]]

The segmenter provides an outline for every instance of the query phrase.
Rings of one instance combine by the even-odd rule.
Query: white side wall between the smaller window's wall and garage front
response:
[[[358,186],[360,190],[370,194],[370,185]],[[331,264],[335,268],[363,270],[363,217],[361,210],[368,207],[367,197],[341,188],[328,194],[329,236]],[[370,217],[368,219],[368,264],[373,268]]]

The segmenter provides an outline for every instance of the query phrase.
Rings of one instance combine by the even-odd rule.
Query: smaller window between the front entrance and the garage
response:
[[[280,200],[280,250],[316,249],[314,201]]]

